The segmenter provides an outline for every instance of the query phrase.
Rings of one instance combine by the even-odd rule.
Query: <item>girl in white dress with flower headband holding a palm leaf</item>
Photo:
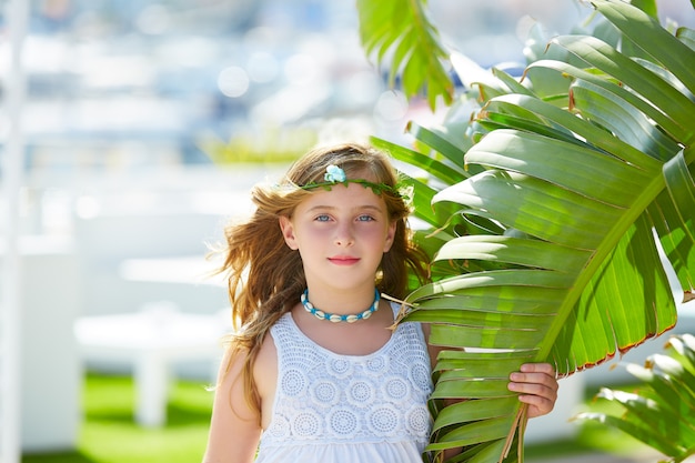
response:
[[[410,210],[389,158],[346,144],[308,153],[280,185],[256,187],[256,211],[225,231],[233,319],[204,463],[416,463],[432,392],[427,326],[401,323],[381,298],[426,280]],[[548,413],[548,364],[512,374],[510,389]]]

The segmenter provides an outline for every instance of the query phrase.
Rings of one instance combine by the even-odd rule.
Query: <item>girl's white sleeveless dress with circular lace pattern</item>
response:
[[[394,313],[397,306],[392,305]],[[419,323],[402,323],[380,350],[341,355],[284,314],[271,335],[278,387],[256,463],[421,463],[432,392]]]

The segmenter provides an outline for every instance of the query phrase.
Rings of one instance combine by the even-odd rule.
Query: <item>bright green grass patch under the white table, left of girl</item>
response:
[[[191,463],[200,462],[208,441],[212,393],[204,382],[179,381],[172,387],[167,425],[138,426],[130,378],[89,374],[78,445],[73,452],[27,454],[22,463]]]

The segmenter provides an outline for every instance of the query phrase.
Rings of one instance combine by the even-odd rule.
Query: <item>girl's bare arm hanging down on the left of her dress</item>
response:
[[[252,463],[261,437],[261,420],[246,402],[241,375],[246,353],[235,353],[231,363],[230,355],[228,350],[220,366],[203,463]]]

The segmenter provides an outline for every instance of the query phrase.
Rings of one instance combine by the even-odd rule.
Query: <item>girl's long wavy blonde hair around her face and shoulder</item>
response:
[[[300,254],[285,244],[279,219],[292,217],[298,204],[313,194],[312,189],[302,187],[323,182],[331,164],[343,169],[349,179],[366,175],[374,183],[390,187],[380,194],[396,228],[393,245],[382,258],[376,282],[379,291],[403,299],[411,290],[409,271],[420,283],[427,280],[427,260],[411,240],[406,221],[411,210],[404,198],[395,193],[399,178],[385,153],[361,144],[315,149],[295,162],[280,184],[254,187],[251,191],[254,213],[224,230],[226,245],[222,252],[225,258],[220,273],[228,275],[232,319],[241,325],[229,340],[230,359],[241,350],[248,352],[242,378],[246,401],[259,415],[253,363],[270,328],[292,309],[306,286]]]

